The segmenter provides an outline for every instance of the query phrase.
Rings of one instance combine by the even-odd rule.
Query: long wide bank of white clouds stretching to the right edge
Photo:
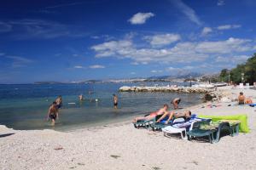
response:
[[[219,55],[252,52],[255,42],[230,37],[224,41],[177,42],[170,48],[137,47],[132,40],[103,42],[91,47],[96,57],[131,59],[132,65],[148,63],[197,63]],[[188,68],[187,68],[188,69]]]

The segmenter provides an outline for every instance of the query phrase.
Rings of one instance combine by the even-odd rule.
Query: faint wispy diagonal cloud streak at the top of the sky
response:
[[[194,22],[196,25],[201,26],[201,20],[199,17],[195,14],[195,10],[193,8],[190,8],[187,4],[183,3],[182,0],[174,0],[171,1],[177,8],[181,10],[183,14],[185,14],[189,20]]]

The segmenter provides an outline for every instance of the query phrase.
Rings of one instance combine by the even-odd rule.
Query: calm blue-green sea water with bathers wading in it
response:
[[[154,83],[148,82],[144,85]],[[171,100],[177,97],[182,99],[180,106],[183,108],[202,101],[201,94],[119,93],[118,89],[124,85],[133,86],[140,83],[0,85],[0,124],[20,130],[70,130],[120,122],[157,111],[164,104],[170,105]],[[84,95],[84,101],[79,101],[79,94]],[[113,109],[113,94],[119,97],[118,109]],[[46,119],[47,113],[49,105],[58,95],[62,96],[63,106],[60,119],[55,127],[51,127]]]

